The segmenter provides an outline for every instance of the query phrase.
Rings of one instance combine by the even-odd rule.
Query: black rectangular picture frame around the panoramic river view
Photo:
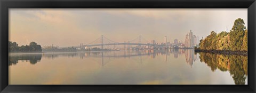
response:
[[[9,85],[9,8],[247,8],[248,85]],[[1,92],[255,92],[255,0],[0,0]]]

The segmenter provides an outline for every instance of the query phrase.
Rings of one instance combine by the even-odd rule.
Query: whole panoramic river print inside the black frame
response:
[[[247,85],[247,8],[11,8],[9,85]]]

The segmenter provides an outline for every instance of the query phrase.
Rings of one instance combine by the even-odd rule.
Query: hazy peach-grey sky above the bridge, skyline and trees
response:
[[[86,44],[101,35],[116,42],[142,35],[158,43],[185,41],[192,30],[202,39],[211,31],[228,31],[237,18],[247,28],[244,9],[9,9],[9,40],[20,45],[35,41],[60,47]],[[142,40],[142,42],[145,42]]]

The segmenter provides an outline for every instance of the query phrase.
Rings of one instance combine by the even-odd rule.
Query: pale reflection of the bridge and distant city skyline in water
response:
[[[168,61],[168,56],[173,53],[174,58],[178,58],[179,55],[185,54],[186,62],[192,66],[193,62],[196,61],[197,56],[194,53],[194,50],[184,50],[184,49],[172,49],[172,50],[126,50],[126,51],[93,51],[93,52],[63,52],[63,53],[44,53],[43,57],[49,59],[55,59],[58,57],[80,57],[84,58],[101,58],[101,66],[104,66],[106,63],[110,62],[105,59],[119,59],[119,58],[132,58],[134,60],[139,60],[139,63],[142,63],[143,56],[150,56],[154,59],[158,54],[165,55],[165,61]],[[137,58],[138,57],[138,58]],[[169,59],[171,60],[171,59]],[[97,60],[94,60],[97,61]],[[107,62],[106,62],[107,61]],[[99,61],[98,61],[99,62]]]

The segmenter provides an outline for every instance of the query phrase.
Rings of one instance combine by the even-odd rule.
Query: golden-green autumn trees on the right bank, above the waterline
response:
[[[222,31],[217,34],[214,31],[205,39],[200,40],[201,50],[227,50],[247,51],[247,29],[244,20],[237,18],[230,32]]]

